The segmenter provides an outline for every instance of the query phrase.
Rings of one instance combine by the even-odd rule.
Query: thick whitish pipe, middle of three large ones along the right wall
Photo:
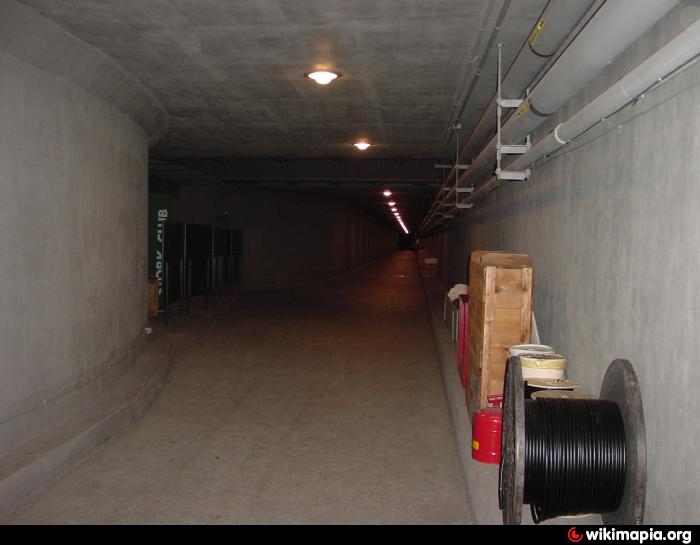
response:
[[[608,0],[506,122],[501,131],[502,141],[521,142],[677,3],[677,0]],[[466,185],[467,181],[478,181],[492,174],[495,148],[496,137],[493,137],[458,178],[458,183]],[[454,187],[445,191],[444,199],[453,197],[454,191]],[[423,229],[430,227],[436,213],[434,210],[423,222]]]

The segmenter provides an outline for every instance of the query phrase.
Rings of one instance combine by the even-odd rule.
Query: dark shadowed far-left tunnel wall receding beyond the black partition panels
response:
[[[287,286],[347,272],[396,248],[397,233],[350,206],[312,194],[181,186],[171,219],[225,222],[243,237],[242,282]]]

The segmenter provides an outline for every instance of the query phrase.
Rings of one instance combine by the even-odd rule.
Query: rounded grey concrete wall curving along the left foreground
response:
[[[139,343],[146,304],[149,134],[30,62],[87,46],[18,10],[16,40],[0,40],[0,456],[98,395]],[[24,33],[52,40],[29,50]],[[102,61],[76,69],[123,77]]]

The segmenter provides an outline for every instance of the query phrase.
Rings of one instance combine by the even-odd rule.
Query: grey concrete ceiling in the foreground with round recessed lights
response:
[[[160,99],[162,159],[451,155],[445,133],[480,57],[465,129],[546,0],[21,0],[110,55]],[[472,60],[474,62],[468,62]],[[304,72],[342,72],[321,87]]]

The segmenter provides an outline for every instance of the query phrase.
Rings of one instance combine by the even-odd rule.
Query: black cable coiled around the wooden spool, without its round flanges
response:
[[[609,513],[625,486],[625,428],[617,403],[525,401],[525,489],[535,523]]]

